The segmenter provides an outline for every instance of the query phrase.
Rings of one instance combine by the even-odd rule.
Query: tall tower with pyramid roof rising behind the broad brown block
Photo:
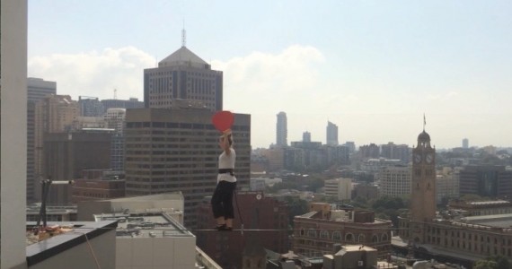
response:
[[[172,108],[174,100],[199,100],[211,111],[222,110],[223,74],[182,46],[144,70],[146,108]]]

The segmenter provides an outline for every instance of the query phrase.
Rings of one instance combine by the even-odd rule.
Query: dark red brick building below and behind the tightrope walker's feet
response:
[[[239,210],[240,209],[240,214]],[[259,241],[261,247],[274,252],[288,251],[287,204],[260,192],[236,193],[234,198],[234,231],[205,231],[216,226],[209,197],[199,204],[197,245],[222,268],[242,268],[244,249],[248,241]],[[242,215],[244,231],[241,228]]]

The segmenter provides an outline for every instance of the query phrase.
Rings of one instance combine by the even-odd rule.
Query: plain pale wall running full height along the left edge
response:
[[[26,268],[27,0],[1,2],[1,268]]]

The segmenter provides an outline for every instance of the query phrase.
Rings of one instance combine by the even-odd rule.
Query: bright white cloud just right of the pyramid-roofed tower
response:
[[[300,99],[316,86],[315,64],[323,61],[318,49],[295,45],[278,54],[252,52],[226,62],[213,61],[212,67],[224,72],[225,106],[251,112],[261,104],[278,109],[284,100]]]

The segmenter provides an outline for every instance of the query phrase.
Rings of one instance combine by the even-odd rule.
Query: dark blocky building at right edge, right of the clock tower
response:
[[[492,198],[512,197],[512,171],[505,166],[465,166],[459,173],[461,195],[481,195]]]

